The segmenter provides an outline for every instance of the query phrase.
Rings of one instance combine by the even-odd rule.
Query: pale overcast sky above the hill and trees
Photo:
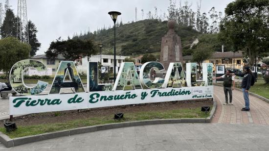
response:
[[[9,0],[14,13],[17,15],[17,0]],[[179,0],[177,0],[179,1]],[[185,0],[182,0],[182,2]],[[192,9],[196,10],[200,0],[187,0],[192,3]],[[202,12],[208,12],[215,6],[217,11],[224,12],[226,5],[233,0],[202,0]],[[4,0],[0,0],[4,3]],[[31,20],[39,30],[38,40],[42,44],[37,54],[44,54],[51,41],[82,31],[91,32],[104,25],[113,25],[108,15],[109,11],[122,13],[118,20],[123,23],[135,20],[135,7],[137,7],[137,19],[141,20],[141,9],[144,10],[144,18],[148,11],[158,14],[167,12],[169,0],[27,0],[28,20]],[[179,35],[180,36],[180,35]]]

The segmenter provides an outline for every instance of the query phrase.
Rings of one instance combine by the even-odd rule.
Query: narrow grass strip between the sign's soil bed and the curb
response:
[[[17,138],[83,126],[95,126],[102,124],[141,121],[141,120],[154,120],[154,119],[206,118],[208,116],[209,112],[208,113],[201,112],[201,107],[199,107],[195,109],[177,109],[177,110],[165,110],[165,111],[144,111],[136,113],[125,113],[124,120],[121,121],[114,121],[112,116],[102,116],[96,118],[73,120],[65,123],[44,124],[35,126],[18,126],[17,130],[10,133],[6,133],[5,129],[3,127],[0,127],[0,131],[8,135],[10,138]]]

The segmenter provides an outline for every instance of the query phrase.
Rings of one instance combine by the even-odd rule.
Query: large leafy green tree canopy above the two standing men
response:
[[[243,50],[252,66],[255,58],[269,51],[269,0],[235,0],[225,8],[220,38]]]

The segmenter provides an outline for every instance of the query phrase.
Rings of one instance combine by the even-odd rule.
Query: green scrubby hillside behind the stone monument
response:
[[[167,21],[143,20],[135,23],[119,25],[116,27],[116,50],[122,55],[138,55],[144,53],[160,52],[161,37],[166,32]],[[201,34],[187,26],[176,25],[176,33],[181,37],[183,55],[190,55],[188,50],[193,41]],[[94,33],[87,33],[73,38],[93,39],[102,43],[104,54],[113,54],[114,29],[101,29]]]

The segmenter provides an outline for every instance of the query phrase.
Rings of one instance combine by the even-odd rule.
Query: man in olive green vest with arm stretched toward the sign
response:
[[[230,70],[227,70],[226,74],[223,75],[223,76],[213,77],[213,79],[221,79],[221,78],[224,79],[224,81],[223,81],[223,89],[224,89],[224,94],[225,94],[225,103],[224,103],[224,105],[226,105],[226,104],[233,105],[233,102],[232,102],[232,98],[233,98],[232,90],[234,90],[234,86],[235,86],[234,77],[233,77],[233,75],[231,75]],[[229,93],[230,103],[228,102],[228,93]]]

